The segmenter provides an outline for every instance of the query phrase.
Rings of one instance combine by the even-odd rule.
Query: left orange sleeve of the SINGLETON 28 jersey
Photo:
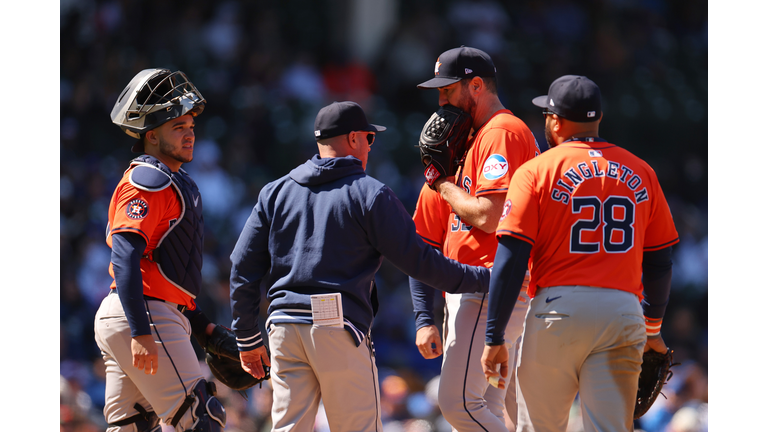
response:
[[[539,199],[533,172],[527,168],[512,176],[496,236],[512,236],[533,245],[539,231]]]

